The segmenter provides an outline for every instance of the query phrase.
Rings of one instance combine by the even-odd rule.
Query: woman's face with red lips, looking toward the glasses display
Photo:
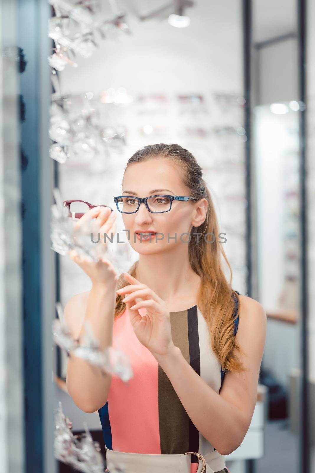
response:
[[[152,158],[132,163],[125,171],[121,195],[190,196],[190,191],[183,184],[181,175],[179,166],[167,158]],[[198,202],[173,201],[169,212],[152,213],[144,203],[140,204],[136,213],[122,214],[125,229],[130,231],[130,245],[139,254],[161,253],[174,248],[174,245],[188,245],[189,237],[185,233],[190,234],[193,225],[198,227],[203,223],[206,217],[206,205],[206,199]],[[150,241],[150,237],[137,236],[136,232],[139,231],[151,231],[159,235],[151,236]]]

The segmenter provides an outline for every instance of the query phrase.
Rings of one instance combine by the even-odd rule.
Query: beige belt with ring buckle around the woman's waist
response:
[[[106,446],[105,449],[109,473],[190,473],[191,455],[196,455],[198,458],[196,473],[215,473],[215,471],[223,470],[225,466],[224,457],[216,458],[215,465],[213,464],[214,471],[205,461],[203,455],[198,452],[159,455],[119,452]]]

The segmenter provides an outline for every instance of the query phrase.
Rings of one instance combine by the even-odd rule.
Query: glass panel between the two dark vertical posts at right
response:
[[[255,294],[268,316],[259,377],[266,435],[257,473],[301,471],[298,5],[282,6],[253,0]]]

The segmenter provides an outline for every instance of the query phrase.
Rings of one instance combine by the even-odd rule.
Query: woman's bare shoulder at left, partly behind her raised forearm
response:
[[[90,291],[80,292],[72,296],[65,305],[63,316],[71,335],[77,339],[85,318]]]

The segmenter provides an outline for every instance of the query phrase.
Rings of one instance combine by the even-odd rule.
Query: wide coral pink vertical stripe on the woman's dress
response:
[[[139,312],[145,315],[146,309],[140,309]],[[136,338],[127,307],[114,321],[113,347],[129,356],[134,377],[128,383],[112,377],[107,399],[112,449],[129,453],[161,454],[158,362]]]

